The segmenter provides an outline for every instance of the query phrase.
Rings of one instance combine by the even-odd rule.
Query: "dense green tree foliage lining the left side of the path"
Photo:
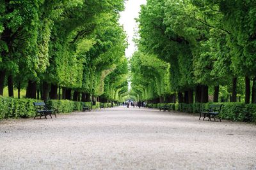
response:
[[[32,80],[100,96],[123,64],[122,10],[124,0],[1,1],[0,71],[22,87]]]

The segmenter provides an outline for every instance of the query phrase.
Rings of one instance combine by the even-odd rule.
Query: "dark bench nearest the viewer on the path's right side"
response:
[[[221,122],[221,118],[220,118],[219,114],[220,114],[222,106],[223,106],[223,104],[211,104],[211,106],[208,110],[200,111],[199,120],[204,115],[204,119],[205,119],[205,117],[207,117],[208,121],[210,121],[211,118],[214,118],[214,121],[216,121],[215,117],[218,117],[220,119],[220,122]]]

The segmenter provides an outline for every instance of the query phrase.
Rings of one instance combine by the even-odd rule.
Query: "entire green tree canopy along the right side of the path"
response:
[[[218,96],[220,87],[224,87],[232,94],[231,101],[237,101],[238,92],[245,94],[248,103],[252,78],[255,103],[255,11],[255,1],[148,0],[137,18],[139,38],[138,52],[131,59],[131,67],[136,68],[131,69],[132,92],[143,100],[161,101],[172,94],[178,95],[180,103],[193,103],[194,99],[205,103],[209,93],[216,102],[220,97],[227,99]],[[154,71],[143,68],[143,57],[138,60],[138,53],[158,59],[161,66],[169,64],[164,71],[169,77],[161,73],[161,66]],[[160,74],[154,80],[157,72]],[[161,85],[164,90],[159,92],[159,83],[166,80],[169,87]],[[240,90],[243,80],[245,92]],[[150,94],[147,89],[152,89]]]

